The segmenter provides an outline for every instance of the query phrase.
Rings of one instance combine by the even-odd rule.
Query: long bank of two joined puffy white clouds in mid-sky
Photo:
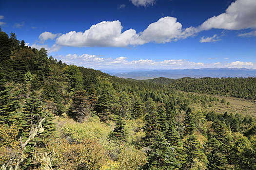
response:
[[[143,32],[129,29],[122,32],[123,27],[119,20],[102,21],[92,25],[82,32],[71,31],[62,34],[56,39],[60,46],[74,47],[126,47],[136,46],[148,42],[166,43],[192,36],[198,29],[190,27],[182,31],[181,23],[175,17],[162,17],[151,23]]]

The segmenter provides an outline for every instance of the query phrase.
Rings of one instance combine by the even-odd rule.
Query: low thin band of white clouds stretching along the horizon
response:
[[[256,68],[256,63],[236,61],[232,63],[202,63],[191,62],[184,59],[179,60],[151,60],[151,59],[139,59],[129,61],[127,57],[121,56],[118,58],[104,58],[91,54],[67,54],[55,56],[62,62],[67,64],[75,64],[77,66],[83,66],[86,68],[165,68],[165,69],[177,69],[177,68]]]

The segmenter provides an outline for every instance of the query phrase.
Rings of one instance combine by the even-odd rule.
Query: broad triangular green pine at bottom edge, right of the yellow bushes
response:
[[[142,170],[174,170],[180,167],[180,162],[176,158],[176,150],[164,138],[162,133],[158,133],[154,142],[147,152],[147,163]]]

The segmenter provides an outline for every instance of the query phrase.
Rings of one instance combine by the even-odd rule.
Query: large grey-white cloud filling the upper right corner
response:
[[[201,30],[212,28],[240,30],[256,28],[256,0],[236,0],[226,9],[225,13],[207,19]]]

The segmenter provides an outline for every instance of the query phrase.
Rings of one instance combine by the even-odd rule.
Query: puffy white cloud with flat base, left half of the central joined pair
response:
[[[103,21],[92,25],[84,33],[71,31],[62,34],[57,38],[56,43],[74,47],[125,47],[137,39],[138,35],[133,29],[121,33],[122,28],[119,20]]]

